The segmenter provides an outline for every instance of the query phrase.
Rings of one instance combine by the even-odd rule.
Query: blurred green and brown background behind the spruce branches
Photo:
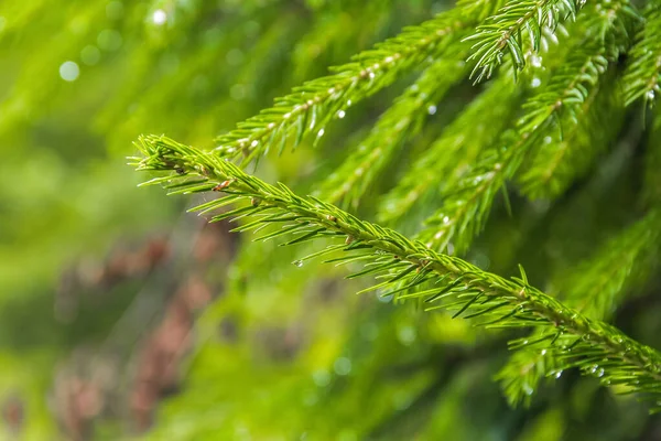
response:
[[[635,397],[577,373],[512,409],[492,378],[508,335],[354,295],[368,281],[290,265],[304,246],[252,244],[185,214],[196,201],[136,187],[149,176],[126,157],[140,133],[214,147],[292,86],[449,6],[3,0],[0,439],[661,439]],[[308,192],[410,79],[258,174]],[[453,90],[399,160],[474,95]],[[548,287],[631,220],[638,160],[615,147],[561,201],[514,196],[513,218],[497,206],[468,258],[502,275],[522,262]],[[375,185],[358,212],[373,218],[391,186]],[[648,343],[661,332],[658,282],[616,318]]]

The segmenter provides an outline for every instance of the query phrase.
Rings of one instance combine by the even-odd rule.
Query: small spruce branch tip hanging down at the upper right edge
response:
[[[630,63],[624,74],[625,103],[630,105],[643,97],[652,104],[661,83],[661,7],[650,2],[644,11],[644,23],[629,52]]]

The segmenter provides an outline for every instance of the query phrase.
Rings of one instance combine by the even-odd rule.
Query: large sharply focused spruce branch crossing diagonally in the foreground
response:
[[[149,183],[163,184],[171,194],[226,194],[193,211],[210,213],[239,204],[212,220],[243,219],[236,230],[263,230],[262,240],[288,237],[285,245],[343,239],[295,262],[297,266],[313,257],[337,256],[327,261],[365,263],[362,270],[349,277],[376,277],[380,282],[368,290],[421,299],[429,310],[446,309],[456,311],[455,316],[480,318],[479,324],[489,327],[545,327],[549,331],[544,338],[521,338],[511,346],[552,347],[563,366],[579,367],[606,385],[625,385],[643,398],[659,399],[661,354],[533,288],[522,269],[521,277],[511,279],[483,271],[328,203],[299,196],[283,184],[264,183],[229,161],[167,138],[144,137],[138,147],[144,154],[133,159],[138,170],[174,171]]]

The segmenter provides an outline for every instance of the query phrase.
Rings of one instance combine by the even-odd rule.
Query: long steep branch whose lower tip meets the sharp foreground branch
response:
[[[605,69],[607,60],[598,46],[578,46],[540,94],[523,106],[528,112],[514,130],[485,151],[477,164],[446,191],[443,206],[426,220],[421,238],[432,248],[445,249],[451,241],[458,252],[481,232],[491,204],[529,151],[556,121],[561,110],[572,111],[587,97]]]

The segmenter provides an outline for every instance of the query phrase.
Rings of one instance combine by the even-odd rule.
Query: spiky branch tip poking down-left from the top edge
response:
[[[472,77],[479,82],[491,76],[509,52],[516,69],[525,66],[523,35],[533,51],[539,51],[545,29],[554,32],[560,23],[575,19],[585,0],[510,0],[495,15],[477,26],[465,40],[473,41],[475,52],[468,58],[476,61]]]

